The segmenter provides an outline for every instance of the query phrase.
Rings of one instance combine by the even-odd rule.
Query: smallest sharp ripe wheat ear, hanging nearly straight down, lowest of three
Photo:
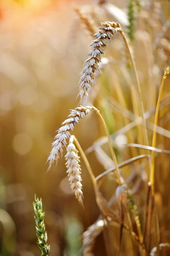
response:
[[[69,145],[67,146],[66,159],[66,172],[68,173],[69,183],[71,185],[72,192],[75,194],[75,198],[83,206],[83,192],[81,184],[81,167],[79,165],[80,157],[78,156],[78,150],[75,148],[74,135],[70,136]]]

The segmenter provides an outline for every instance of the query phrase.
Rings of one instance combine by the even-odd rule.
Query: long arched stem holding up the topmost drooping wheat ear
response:
[[[135,61],[134,61],[132,52],[130,51],[130,46],[128,44],[126,35],[123,32],[123,29],[121,28],[119,31],[120,31],[120,33],[123,37],[124,43],[125,43],[125,45],[128,49],[129,55],[130,55],[130,60],[132,62],[132,67],[133,67],[133,71],[134,71],[134,74],[135,74],[135,80],[136,80],[136,84],[137,84],[137,88],[138,88],[138,95],[139,95],[139,100],[140,100],[139,107],[140,107],[141,117],[143,119],[143,125],[144,125],[143,126],[144,142],[147,146],[149,146],[149,139],[148,139],[148,134],[147,134],[147,124],[146,124],[146,119],[144,117],[144,103],[143,103],[142,96],[141,96],[141,87],[140,87],[140,83],[139,83],[139,79],[138,79],[138,73],[137,73],[137,70],[136,70]],[[150,154],[150,152],[148,151],[147,154]]]

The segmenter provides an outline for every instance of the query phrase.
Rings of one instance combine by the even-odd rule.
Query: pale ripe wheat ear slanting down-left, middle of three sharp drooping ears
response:
[[[79,106],[78,108],[70,110],[69,118],[62,123],[63,126],[58,129],[58,134],[55,136],[55,141],[52,143],[52,151],[47,159],[47,161],[49,161],[48,171],[51,168],[52,163],[54,163],[55,160],[58,160],[59,153],[62,156],[63,147],[66,147],[66,140],[70,137],[70,131],[73,131],[80,119],[86,116],[91,110],[95,109],[96,108],[89,106]]]

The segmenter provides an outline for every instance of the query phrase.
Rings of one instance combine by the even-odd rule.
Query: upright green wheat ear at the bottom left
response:
[[[45,213],[43,212],[42,207],[42,199],[40,200],[36,198],[35,202],[33,202],[33,207],[35,211],[35,223],[36,223],[36,235],[37,235],[37,245],[40,248],[40,252],[42,256],[48,256],[50,245],[47,244],[47,232],[45,231],[44,217]]]

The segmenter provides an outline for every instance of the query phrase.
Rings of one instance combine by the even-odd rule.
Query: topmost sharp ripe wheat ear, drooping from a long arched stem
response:
[[[121,27],[119,23],[115,22],[102,22],[98,33],[94,35],[95,39],[90,44],[91,50],[88,55],[89,58],[85,61],[86,67],[84,67],[80,79],[79,95],[82,98],[88,96],[88,90],[92,86],[92,82],[95,78],[95,72],[99,69],[98,63],[101,61],[101,54],[104,53],[104,48],[107,45],[107,39],[111,39],[115,32],[120,31]]]

